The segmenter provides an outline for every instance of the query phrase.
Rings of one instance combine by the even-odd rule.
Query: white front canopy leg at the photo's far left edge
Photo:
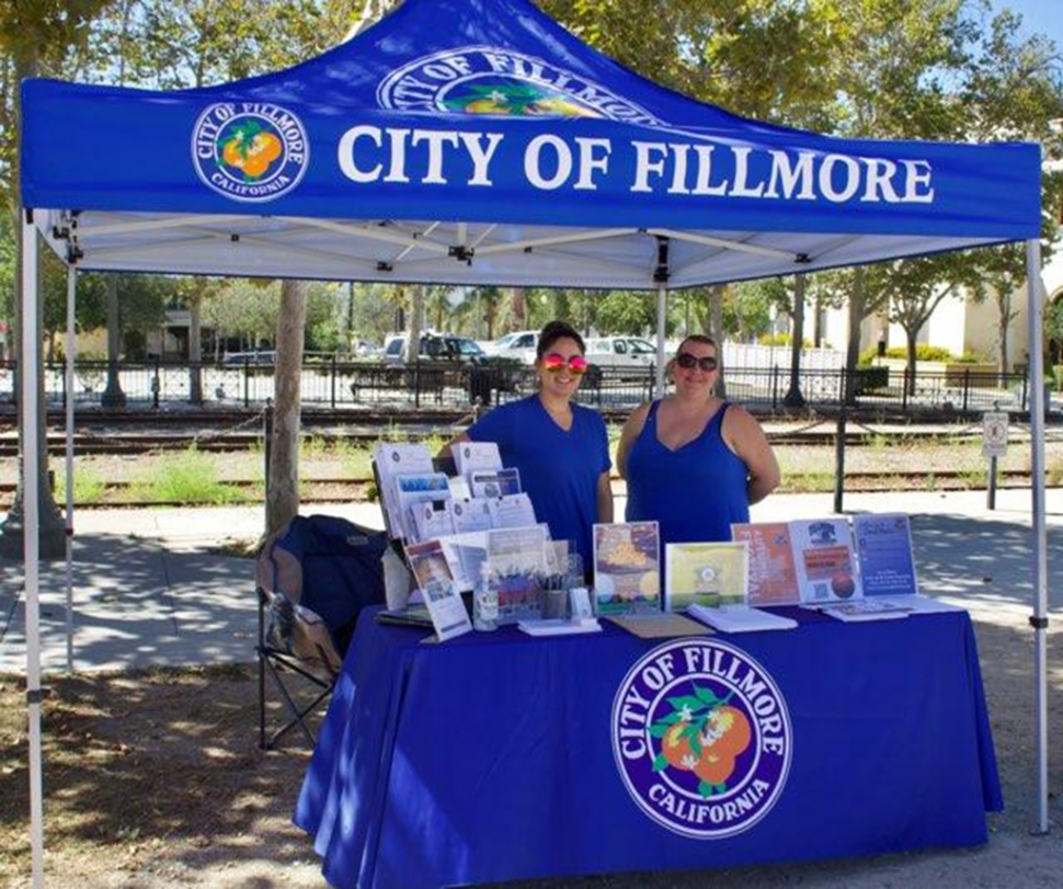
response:
[[[44,886],[44,782],[41,751],[41,602],[39,533],[41,504],[37,490],[37,230],[33,210],[22,219],[22,490],[25,494],[24,556],[26,614],[26,703],[30,717],[30,847],[33,862],[33,889]]]

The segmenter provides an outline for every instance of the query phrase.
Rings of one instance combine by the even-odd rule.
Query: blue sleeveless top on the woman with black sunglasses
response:
[[[628,454],[629,522],[661,525],[665,544],[731,539],[732,522],[750,521],[748,470],[723,441],[723,402],[693,442],[670,451],[658,438],[658,407],[650,404],[645,425]]]

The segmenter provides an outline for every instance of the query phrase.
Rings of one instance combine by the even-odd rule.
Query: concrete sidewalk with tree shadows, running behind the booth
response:
[[[996,623],[1029,614],[1030,492],[848,494],[847,512],[907,512],[924,592]],[[754,521],[830,515],[831,494],[778,494],[753,509]],[[618,498],[617,514],[624,502]],[[305,513],[342,515],[380,527],[376,504],[310,504]],[[1049,578],[1063,577],[1063,490],[1048,492]],[[226,539],[253,539],[262,506],[85,510],[76,516],[75,669],[250,662],[258,611],[252,563],[218,556]],[[0,672],[25,670],[22,568],[0,560]],[[66,567],[42,563],[41,632],[45,670],[66,668]],[[1063,607],[1055,580],[1050,606]]]

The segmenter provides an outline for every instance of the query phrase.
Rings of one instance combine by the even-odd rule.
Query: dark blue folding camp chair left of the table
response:
[[[331,515],[296,516],[266,540],[255,563],[263,750],[296,727],[313,745],[307,717],[332,694],[359,612],[384,602],[387,545],[387,535]],[[286,708],[284,725],[268,738],[267,674]],[[289,674],[305,681],[301,688],[286,684]]]

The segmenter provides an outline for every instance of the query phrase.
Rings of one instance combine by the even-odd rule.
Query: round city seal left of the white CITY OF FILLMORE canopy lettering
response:
[[[306,127],[268,102],[210,105],[192,132],[192,159],[204,184],[233,201],[274,201],[307,171]]]

